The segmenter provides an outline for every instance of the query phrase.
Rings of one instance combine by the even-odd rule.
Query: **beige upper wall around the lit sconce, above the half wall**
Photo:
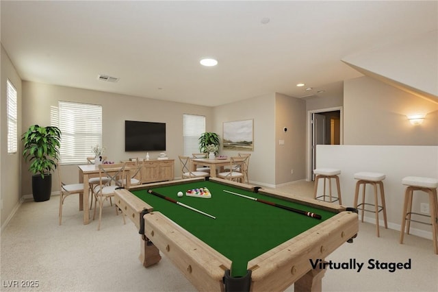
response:
[[[425,113],[422,125],[408,114]],[[344,82],[344,144],[438,145],[438,103],[370,77]]]

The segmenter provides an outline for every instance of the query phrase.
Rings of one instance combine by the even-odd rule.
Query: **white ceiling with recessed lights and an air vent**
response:
[[[434,29],[436,1],[1,1],[22,80],[203,106],[339,96],[344,57]]]

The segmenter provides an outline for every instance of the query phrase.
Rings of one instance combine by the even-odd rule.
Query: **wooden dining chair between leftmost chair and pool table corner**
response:
[[[105,182],[105,178],[108,180]],[[99,223],[97,230],[101,229],[102,221],[102,208],[103,203],[107,199],[111,199],[115,195],[116,188],[123,187],[123,182],[125,178],[125,163],[118,163],[112,165],[99,165],[99,184],[94,186],[94,214],[93,220],[96,217],[96,206],[99,203]],[[118,215],[118,208],[116,206],[116,215]],[[123,217],[123,222],[125,223],[125,216]]]

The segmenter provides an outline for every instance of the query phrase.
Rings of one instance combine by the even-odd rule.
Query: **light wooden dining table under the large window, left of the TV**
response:
[[[83,183],[82,193],[82,208],[83,208],[83,224],[90,223],[90,186],[88,182],[90,178],[99,178],[99,165],[78,165],[79,182]],[[125,167],[125,175],[130,178],[130,168]],[[127,187],[130,186],[131,180],[127,180]],[[79,201],[80,202],[80,201]]]

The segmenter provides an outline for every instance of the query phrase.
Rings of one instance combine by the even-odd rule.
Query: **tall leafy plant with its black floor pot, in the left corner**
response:
[[[21,138],[24,141],[23,158],[30,162],[32,194],[35,202],[50,199],[52,176],[60,156],[61,130],[58,127],[31,125]]]

